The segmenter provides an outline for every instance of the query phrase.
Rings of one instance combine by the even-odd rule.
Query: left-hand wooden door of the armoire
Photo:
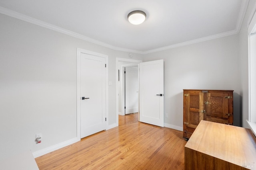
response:
[[[196,128],[204,119],[204,93],[186,92],[186,127]]]

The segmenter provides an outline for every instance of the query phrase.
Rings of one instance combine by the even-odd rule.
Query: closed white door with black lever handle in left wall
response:
[[[81,53],[81,138],[106,129],[105,58]]]

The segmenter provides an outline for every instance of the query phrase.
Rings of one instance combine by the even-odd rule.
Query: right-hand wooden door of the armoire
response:
[[[228,93],[206,93],[206,116],[228,118],[228,99],[225,96]]]

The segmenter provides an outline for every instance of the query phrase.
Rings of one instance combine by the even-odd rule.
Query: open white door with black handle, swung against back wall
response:
[[[140,63],[140,121],[164,127],[164,60]]]

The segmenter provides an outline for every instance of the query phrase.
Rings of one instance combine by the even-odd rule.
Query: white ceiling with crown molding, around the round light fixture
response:
[[[150,53],[236,34],[248,0],[0,0],[0,13],[112,49]],[[2,7],[2,8],[1,8]],[[127,15],[147,17],[132,25]]]

